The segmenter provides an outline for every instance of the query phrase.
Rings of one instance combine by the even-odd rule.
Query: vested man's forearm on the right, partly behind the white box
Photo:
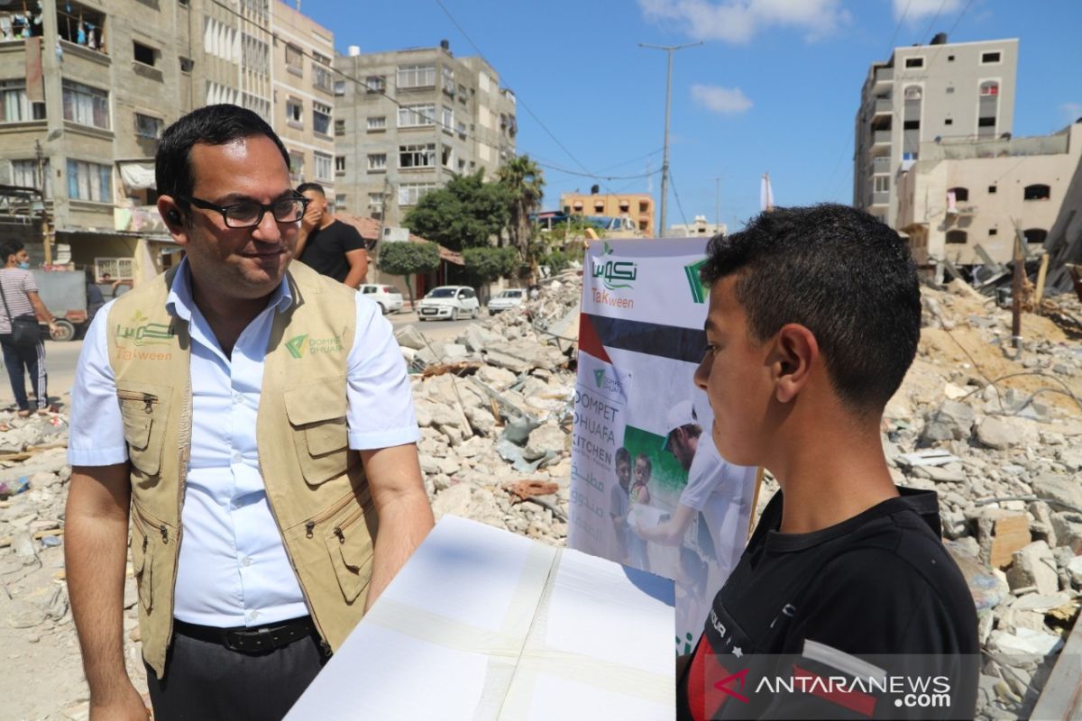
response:
[[[433,526],[432,507],[423,489],[404,492],[381,508],[379,517],[366,611],[372,607]]]

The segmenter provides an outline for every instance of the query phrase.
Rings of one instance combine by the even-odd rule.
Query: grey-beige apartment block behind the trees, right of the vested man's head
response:
[[[339,55],[335,205],[401,226],[425,192],[454,174],[515,155],[515,96],[479,57],[438,48]]]

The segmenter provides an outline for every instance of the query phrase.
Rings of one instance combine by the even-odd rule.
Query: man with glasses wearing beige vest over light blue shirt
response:
[[[259,116],[195,110],[156,170],[186,257],[102,308],[71,393],[91,717],[147,718],[123,653],[130,524],[155,718],[281,718],[432,528],[409,382],[375,306],[291,264],[307,201]]]

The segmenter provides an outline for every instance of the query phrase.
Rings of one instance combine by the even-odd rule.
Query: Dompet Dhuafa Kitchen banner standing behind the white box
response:
[[[743,550],[756,469],[718,454],[710,405],[692,380],[705,306],[690,292],[679,302],[674,289],[695,277],[688,268],[704,240],[665,245],[588,250],[569,545],[674,579],[683,654]],[[620,283],[605,277],[613,267]]]

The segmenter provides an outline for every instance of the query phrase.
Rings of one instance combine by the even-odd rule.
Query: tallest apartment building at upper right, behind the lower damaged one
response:
[[[1012,131],[1018,40],[896,48],[872,63],[856,116],[853,204],[895,226],[899,168],[939,138],[997,138]]]

